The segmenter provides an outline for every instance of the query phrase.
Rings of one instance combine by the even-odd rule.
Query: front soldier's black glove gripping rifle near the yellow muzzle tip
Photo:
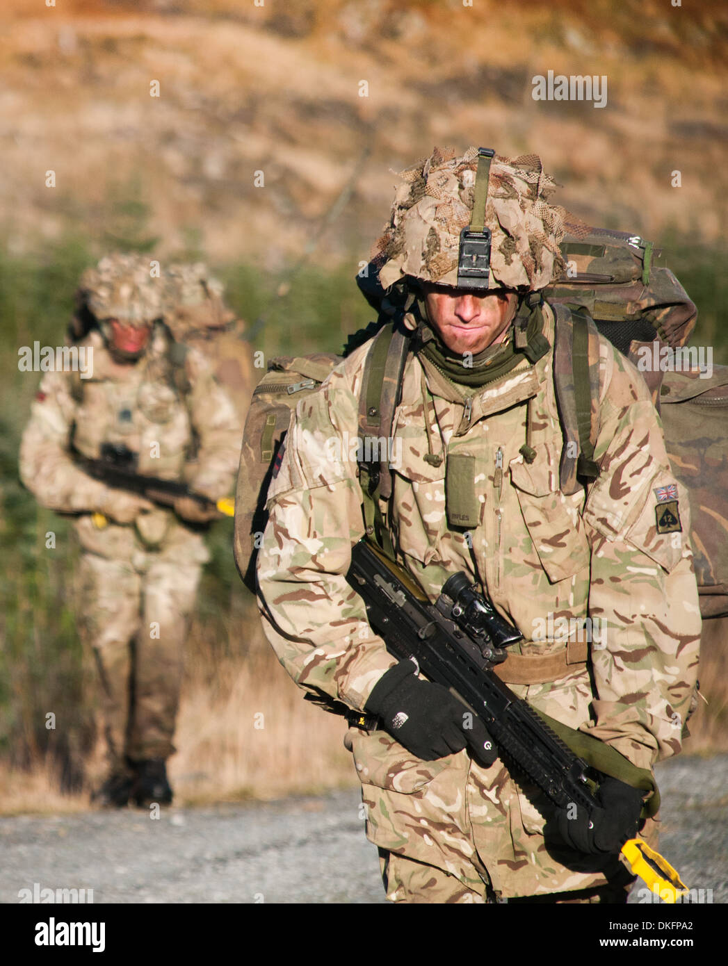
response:
[[[586,809],[576,807],[576,814],[569,818],[569,809],[561,809],[557,824],[561,838],[577,852],[598,855],[619,852],[627,838],[637,834],[642,792],[619,779],[604,778],[597,792],[599,808],[590,817]]]

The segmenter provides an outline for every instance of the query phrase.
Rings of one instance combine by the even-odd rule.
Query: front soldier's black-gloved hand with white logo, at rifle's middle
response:
[[[366,710],[378,715],[393,738],[423,761],[461,752],[468,745],[473,757],[489,768],[498,755],[479,719],[447,688],[421,681],[415,670],[413,661],[390,668],[374,685]]]

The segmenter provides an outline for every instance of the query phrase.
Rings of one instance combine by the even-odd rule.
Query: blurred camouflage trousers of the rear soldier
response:
[[[140,554],[129,561],[82,554],[79,631],[101,675],[112,771],[124,759],[167,758],[182,682],[183,647],[201,565]]]

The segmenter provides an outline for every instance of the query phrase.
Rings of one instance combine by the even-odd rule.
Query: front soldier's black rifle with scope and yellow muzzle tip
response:
[[[499,752],[534,781],[557,810],[575,805],[591,816],[604,774],[568,747],[598,746],[600,760],[625,759],[596,738],[574,731],[516,696],[493,673],[506,647],[522,639],[471,586],[453,575],[432,605],[422,589],[366,540],[352,551],[347,580],[363,598],[372,630],[399,660],[414,659],[430,681],[444,685],[480,719]],[[558,732],[558,733],[557,733]],[[589,755],[587,755],[589,756]],[[630,838],[621,857],[665,902],[686,891],[676,870],[641,838]]]

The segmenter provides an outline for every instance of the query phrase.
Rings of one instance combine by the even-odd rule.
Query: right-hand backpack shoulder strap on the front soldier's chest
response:
[[[564,430],[560,468],[563,493],[595,480],[599,414],[599,334],[581,306],[552,304],[555,315],[554,386]]]

